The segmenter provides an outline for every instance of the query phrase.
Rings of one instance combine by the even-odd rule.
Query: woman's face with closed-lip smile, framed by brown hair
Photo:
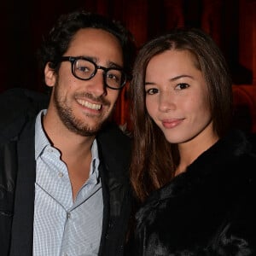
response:
[[[213,136],[207,84],[189,50],[166,50],[149,62],[146,108],[169,143],[200,142]]]

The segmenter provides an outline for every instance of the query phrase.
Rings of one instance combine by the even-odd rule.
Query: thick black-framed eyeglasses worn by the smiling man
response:
[[[125,86],[127,75],[121,68],[97,66],[95,62],[82,56],[62,56],[60,61],[71,62],[71,71],[77,79],[90,80],[96,75],[98,69],[102,69],[107,87],[113,90],[120,90]]]

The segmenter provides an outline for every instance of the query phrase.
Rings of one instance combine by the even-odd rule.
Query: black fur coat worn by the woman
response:
[[[137,212],[128,255],[256,255],[256,157],[232,132]],[[131,250],[132,248],[132,250]]]

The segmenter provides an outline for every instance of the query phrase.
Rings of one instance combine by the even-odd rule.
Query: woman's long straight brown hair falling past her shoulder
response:
[[[160,128],[149,117],[145,105],[145,73],[154,55],[166,50],[189,50],[195,55],[208,91],[213,129],[222,137],[230,124],[232,90],[224,56],[212,38],[199,29],[177,29],[154,38],[140,49],[130,84],[133,151],[131,184],[138,201],[144,201],[174,177],[179,155],[177,145],[166,141]]]

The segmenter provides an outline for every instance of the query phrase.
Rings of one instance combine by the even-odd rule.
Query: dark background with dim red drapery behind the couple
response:
[[[0,92],[14,87],[44,90],[36,51],[59,15],[75,9],[120,20],[133,33],[137,49],[176,26],[208,32],[230,65],[234,125],[256,132],[256,0],[3,0]],[[126,87],[114,119],[128,129],[129,105]]]

